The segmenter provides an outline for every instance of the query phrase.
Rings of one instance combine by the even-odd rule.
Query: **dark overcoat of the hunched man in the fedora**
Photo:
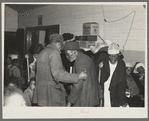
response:
[[[73,106],[96,106],[99,104],[98,82],[94,63],[90,57],[78,51],[74,62],[73,73],[81,73],[86,70],[87,79],[73,84],[68,97],[68,102]]]

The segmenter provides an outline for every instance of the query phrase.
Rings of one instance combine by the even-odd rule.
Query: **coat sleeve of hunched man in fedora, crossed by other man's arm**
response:
[[[76,66],[76,73],[80,74],[83,70],[86,70],[86,73],[88,73],[86,64],[83,62],[79,62]],[[87,75],[89,75],[89,74],[87,74]],[[72,104],[76,103],[76,101],[80,98],[82,86],[83,86],[83,80],[80,80],[77,84],[73,84],[73,88],[72,88],[71,93],[68,97],[68,102],[70,102]]]

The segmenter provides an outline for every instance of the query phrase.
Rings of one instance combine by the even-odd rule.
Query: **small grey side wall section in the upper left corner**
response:
[[[18,29],[18,12],[5,6],[5,31],[16,32]]]

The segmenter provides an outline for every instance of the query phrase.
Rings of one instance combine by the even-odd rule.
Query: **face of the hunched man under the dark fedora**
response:
[[[72,62],[76,59],[77,52],[75,50],[65,50],[67,59]]]

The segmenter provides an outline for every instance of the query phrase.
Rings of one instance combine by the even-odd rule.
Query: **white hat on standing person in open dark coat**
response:
[[[108,48],[108,54],[119,54],[120,50],[116,43],[112,43]]]

